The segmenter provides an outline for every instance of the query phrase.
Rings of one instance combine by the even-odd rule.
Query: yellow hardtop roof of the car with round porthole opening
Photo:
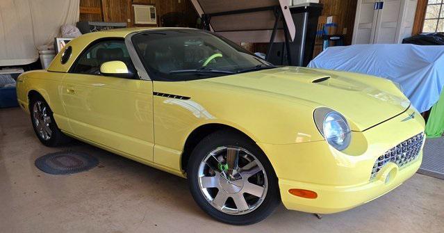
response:
[[[69,68],[72,66],[76,58],[81,54],[81,52],[90,45],[91,42],[100,40],[101,38],[125,38],[126,35],[129,35],[134,32],[139,31],[157,31],[157,30],[183,30],[189,28],[149,28],[149,27],[140,27],[140,28],[124,28],[124,29],[111,29],[106,31],[97,31],[94,33],[86,33],[78,38],[67,43],[65,49],[67,47],[72,47],[72,53],[69,57],[68,61],[64,64],[61,63],[61,56],[65,49],[62,49],[56,57],[53,59],[51,64],[49,64],[48,71],[49,72],[68,72]],[[189,29],[189,30],[197,30],[197,29]]]

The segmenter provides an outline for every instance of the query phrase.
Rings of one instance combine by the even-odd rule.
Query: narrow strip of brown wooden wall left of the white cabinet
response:
[[[322,15],[336,15],[338,17],[338,34],[345,33],[345,45],[352,44],[354,17],[356,15],[357,0],[320,0],[324,5]]]

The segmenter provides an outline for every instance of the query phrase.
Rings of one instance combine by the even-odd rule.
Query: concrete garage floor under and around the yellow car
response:
[[[97,168],[47,175],[34,161],[72,149],[97,156]],[[84,143],[48,148],[28,115],[0,109],[1,232],[444,232],[444,180],[414,175],[391,193],[340,214],[288,211],[256,225],[218,223],[192,200],[186,179]]]

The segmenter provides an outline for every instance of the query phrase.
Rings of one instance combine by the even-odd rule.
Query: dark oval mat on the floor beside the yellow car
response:
[[[56,152],[45,154],[35,160],[35,166],[52,175],[67,175],[90,170],[99,161],[82,152]]]

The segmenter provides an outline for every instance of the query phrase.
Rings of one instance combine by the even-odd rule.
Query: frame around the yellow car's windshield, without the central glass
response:
[[[244,49],[243,47],[241,47],[240,45],[237,45],[235,42],[232,42],[231,40],[228,40],[227,38],[222,37],[221,35],[217,35],[216,33],[213,33],[211,31],[204,31],[204,30],[200,30],[200,29],[186,29],[186,28],[177,28],[177,29],[151,29],[151,30],[144,30],[144,31],[138,31],[135,33],[131,33],[129,35],[127,42],[131,42],[131,52],[133,52],[133,55],[137,56],[137,60],[140,62],[140,66],[143,67],[143,73],[145,73],[145,76],[147,76],[147,79],[149,80],[153,80],[153,81],[193,81],[193,80],[199,80],[199,79],[208,79],[208,78],[216,78],[216,77],[224,77],[224,76],[228,76],[228,75],[234,75],[234,74],[238,74],[238,72],[233,72],[233,74],[230,73],[221,73],[221,72],[214,72],[212,73],[212,75],[202,75],[202,72],[197,72],[193,77],[188,77],[188,79],[165,79],[165,77],[161,77],[159,75],[156,75],[153,70],[151,70],[149,68],[149,65],[146,64],[147,61],[145,61],[145,58],[143,58],[142,56],[142,51],[140,51],[140,49],[138,49],[138,47],[136,46],[136,43],[134,41],[134,36],[135,35],[140,35],[143,33],[162,33],[162,32],[176,32],[176,31],[186,31],[186,32],[192,32],[192,31],[197,31],[198,33],[207,33],[209,35],[215,36],[216,38],[222,40],[222,42],[226,43],[229,47],[232,47],[233,49],[235,49],[238,53],[243,53],[243,54],[247,54],[249,56],[254,57],[256,60],[258,60],[259,62],[263,63],[263,65],[265,65],[265,67],[267,67],[267,69],[270,68],[275,68],[274,65],[272,65],[272,63],[269,63],[268,61],[265,61],[265,59],[256,56],[255,54],[252,54],[251,52],[247,51],[246,49]],[[130,49],[129,49],[130,50]],[[139,66],[139,65],[138,65]],[[140,68],[142,68],[140,67]],[[136,67],[137,68],[137,67]],[[254,70],[254,67],[251,67],[252,69],[248,69],[248,72],[254,72],[254,71],[258,71],[258,70]],[[140,69],[137,69],[140,72]],[[211,72],[204,72],[205,74],[211,74]],[[246,72],[242,72],[242,73],[246,73]],[[142,78],[143,79],[143,78]]]

